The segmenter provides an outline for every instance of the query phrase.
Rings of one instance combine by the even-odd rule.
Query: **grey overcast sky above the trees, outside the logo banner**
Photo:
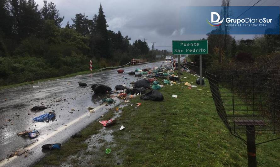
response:
[[[259,0],[231,0],[231,6],[252,6]],[[42,8],[43,0],[35,0]],[[148,39],[148,45],[156,42],[155,49],[171,50],[172,40],[206,38],[206,35],[189,35],[179,28],[179,10],[184,6],[221,6],[221,0],[52,0],[64,16],[63,25],[72,23],[76,13],[82,13],[92,19],[98,14],[102,4],[109,30],[120,30],[123,36],[131,37],[131,43],[137,39]],[[256,6],[279,6],[279,0],[261,0]],[[236,39],[251,39],[254,35],[232,35]],[[166,46],[166,47],[160,47]]]

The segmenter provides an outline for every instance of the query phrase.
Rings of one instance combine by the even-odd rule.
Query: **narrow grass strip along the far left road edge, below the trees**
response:
[[[92,72],[97,72],[97,70],[98,69],[92,70]],[[0,90],[12,88],[12,87],[17,87],[17,86],[36,84],[38,82],[52,81],[52,80],[56,80],[56,79],[60,79],[60,78],[68,78],[68,77],[77,76],[77,75],[89,74],[89,73],[90,73],[90,71],[87,70],[87,71],[81,71],[81,72],[76,72],[76,73],[68,74],[66,76],[59,76],[59,77],[53,77],[53,78],[47,78],[47,79],[40,79],[40,80],[36,80],[34,82],[33,81],[29,81],[29,82],[23,82],[23,83],[12,84],[12,85],[7,85],[7,86],[0,86]]]

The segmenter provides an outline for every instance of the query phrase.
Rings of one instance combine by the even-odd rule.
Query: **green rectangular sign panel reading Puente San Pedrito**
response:
[[[172,41],[173,55],[205,55],[208,54],[207,40]]]

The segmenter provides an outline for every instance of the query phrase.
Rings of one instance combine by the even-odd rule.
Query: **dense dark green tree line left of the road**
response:
[[[0,1],[0,85],[63,76],[93,68],[123,65],[147,58],[148,44],[120,31],[108,30],[102,8],[92,18],[77,13],[62,27],[64,17],[52,2]]]

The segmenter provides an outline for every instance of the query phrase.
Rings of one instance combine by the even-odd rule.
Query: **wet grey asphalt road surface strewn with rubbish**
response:
[[[132,86],[129,83],[139,80],[139,77],[129,76],[127,72],[135,71],[136,68],[143,69],[166,64],[162,64],[162,62],[121,68],[125,70],[123,74],[118,74],[117,69],[107,70],[0,91],[0,127],[2,126],[0,128],[0,166],[33,164],[44,156],[45,153],[41,149],[43,144],[65,142],[71,135],[120,103],[119,99],[114,98],[116,104],[108,104],[108,106],[102,104],[100,100],[104,97],[94,95],[90,88],[92,84],[102,83],[110,86],[112,90],[116,85]],[[80,81],[86,82],[88,86],[79,87],[78,82]],[[57,100],[61,101],[57,102]],[[48,108],[38,112],[31,111],[32,107],[42,104]],[[89,113],[86,109],[87,106],[93,106],[95,112]],[[72,108],[75,111],[70,113]],[[32,118],[50,111],[56,113],[53,121],[33,123]],[[40,135],[34,139],[18,136],[17,133],[23,130],[38,130]],[[30,154],[26,158],[21,155],[5,159],[12,151],[20,148],[29,149]]]

